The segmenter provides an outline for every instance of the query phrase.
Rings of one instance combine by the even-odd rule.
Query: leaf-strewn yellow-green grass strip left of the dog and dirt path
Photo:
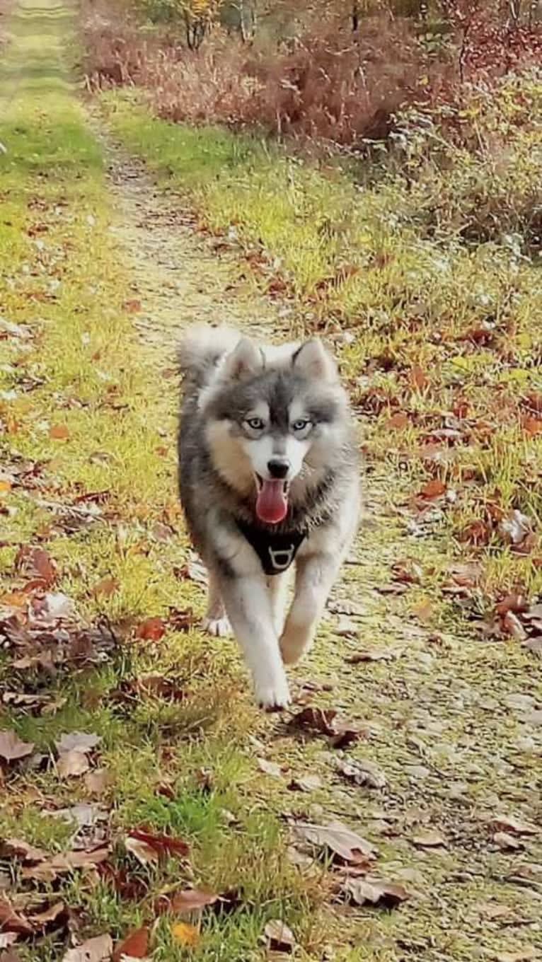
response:
[[[232,709],[242,684],[233,646],[221,646],[211,663],[195,632],[168,631],[160,651],[134,640],[146,617],[167,620],[168,605],[201,605],[201,591],[174,574],[186,559],[172,455],[175,389],[165,391],[152,375],[126,308],[130,289],[108,230],[100,146],[62,66],[73,42],[71,13],[48,0],[22,4],[11,28],[3,68],[8,153],[0,161],[2,315],[27,325],[30,337],[0,342],[0,440],[3,476],[13,478],[22,460],[39,473],[39,486],[13,482],[2,492],[2,597],[7,604],[6,593],[21,583],[13,567],[20,546],[39,544],[57,566],[55,591],[69,596],[87,623],[123,624],[115,627],[123,643],[102,668],[61,665],[50,685],[39,671],[13,671],[5,652],[3,692],[47,691],[62,702],[50,715],[3,707],[0,727],[13,727],[46,754],[66,731],[99,735],[100,765],[110,775],[101,800],[120,864],[122,834],[134,825],[187,839],[189,873],[169,862],[146,873],[145,887],[151,894],[189,882],[242,887],[243,910],[211,918],[192,953],[241,962],[257,948],[268,918],[307,920],[317,893],[285,859],[272,808],[246,797],[252,764],[245,733],[257,722],[247,699]],[[55,438],[51,429],[59,427],[62,437]],[[91,492],[102,493],[98,519],[66,528],[55,506],[85,504]],[[173,526],[167,552],[153,536],[158,522]],[[116,590],[95,595],[103,578],[115,579]],[[190,697],[170,702],[149,694],[134,703],[116,696],[122,682],[145,671],[174,676]],[[197,787],[202,768],[215,773],[208,794]],[[157,795],[166,778],[171,797]],[[89,800],[82,780],[59,779],[52,762],[39,772],[7,772],[0,835],[51,852],[70,848],[72,829],[50,813],[82,799]],[[235,827],[224,812],[233,813]],[[137,864],[127,869],[137,873]],[[120,938],[148,918],[146,903],[123,901],[112,886],[96,887],[85,876],[68,878],[58,894],[77,911],[81,937],[110,931]],[[41,895],[47,897],[46,886]],[[314,928],[304,925],[307,933]],[[155,959],[186,957],[168,918],[155,942]],[[52,962],[63,957],[63,946],[61,931],[18,950],[21,959]]]

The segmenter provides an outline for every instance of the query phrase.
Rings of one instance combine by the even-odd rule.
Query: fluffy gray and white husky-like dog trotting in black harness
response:
[[[179,483],[209,572],[204,627],[224,635],[231,624],[259,704],[284,708],[284,664],[311,646],[357,528],[348,397],[317,339],[270,347],[194,327],[180,367]]]

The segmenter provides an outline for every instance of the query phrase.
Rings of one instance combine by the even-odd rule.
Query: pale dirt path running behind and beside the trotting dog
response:
[[[197,235],[180,199],[100,137],[119,256],[142,304],[135,324],[143,342],[163,359],[179,327],[219,317],[257,335],[287,333],[287,312],[257,294],[233,256],[217,255]],[[390,584],[393,564],[405,557],[438,566],[439,545],[430,527],[408,528],[386,478],[373,474],[368,491],[357,558],[334,592],[314,653],[295,672],[301,694],[310,679],[318,703],[361,723],[364,737],[334,751],[323,738],[298,741],[270,722],[262,735],[267,757],[283,771],[322,777],[300,801],[285,787],[284,810],[348,822],[377,846],[378,872],[416,893],[390,920],[358,910],[371,958],[388,957],[390,938],[402,947],[394,958],[470,959],[480,946],[483,957],[496,958],[504,925],[512,948],[540,945],[539,836],[506,822],[541,814],[534,687],[505,646],[480,644],[446,617],[436,627],[425,623],[423,590]],[[366,660],[348,664],[360,651]],[[369,763],[361,788],[341,773],[352,759]]]

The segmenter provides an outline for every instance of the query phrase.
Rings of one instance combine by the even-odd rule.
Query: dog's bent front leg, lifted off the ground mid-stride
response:
[[[312,554],[297,560],[294,600],[280,639],[286,665],[295,664],[312,645],[340,563],[340,557],[330,554]]]

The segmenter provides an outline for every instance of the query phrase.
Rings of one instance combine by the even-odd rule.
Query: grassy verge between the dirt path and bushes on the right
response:
[[[403,154],[374,170],[374,186],[365,174],[366,187],[256,138],[160,120],[137,92],[103,97],[118,137],[190,191],[209,230],[234,229],[306,329],[339,342],[348,331],[343,367],[370,457],[406,472],[412,495],[443,482],[450,550],[481,554],[489,602],[542,589],[539,550],[510,552],[498,529],[513,509],[536,530],[542,519],[537,77],[507,79],[487,102],[473,93],[465,114],[483,147],[472,153],[443,139],[438,115],[408,115]],[[495,130],[506,142],[491,147]],[[477,522],[481,551],[469,544]]]

